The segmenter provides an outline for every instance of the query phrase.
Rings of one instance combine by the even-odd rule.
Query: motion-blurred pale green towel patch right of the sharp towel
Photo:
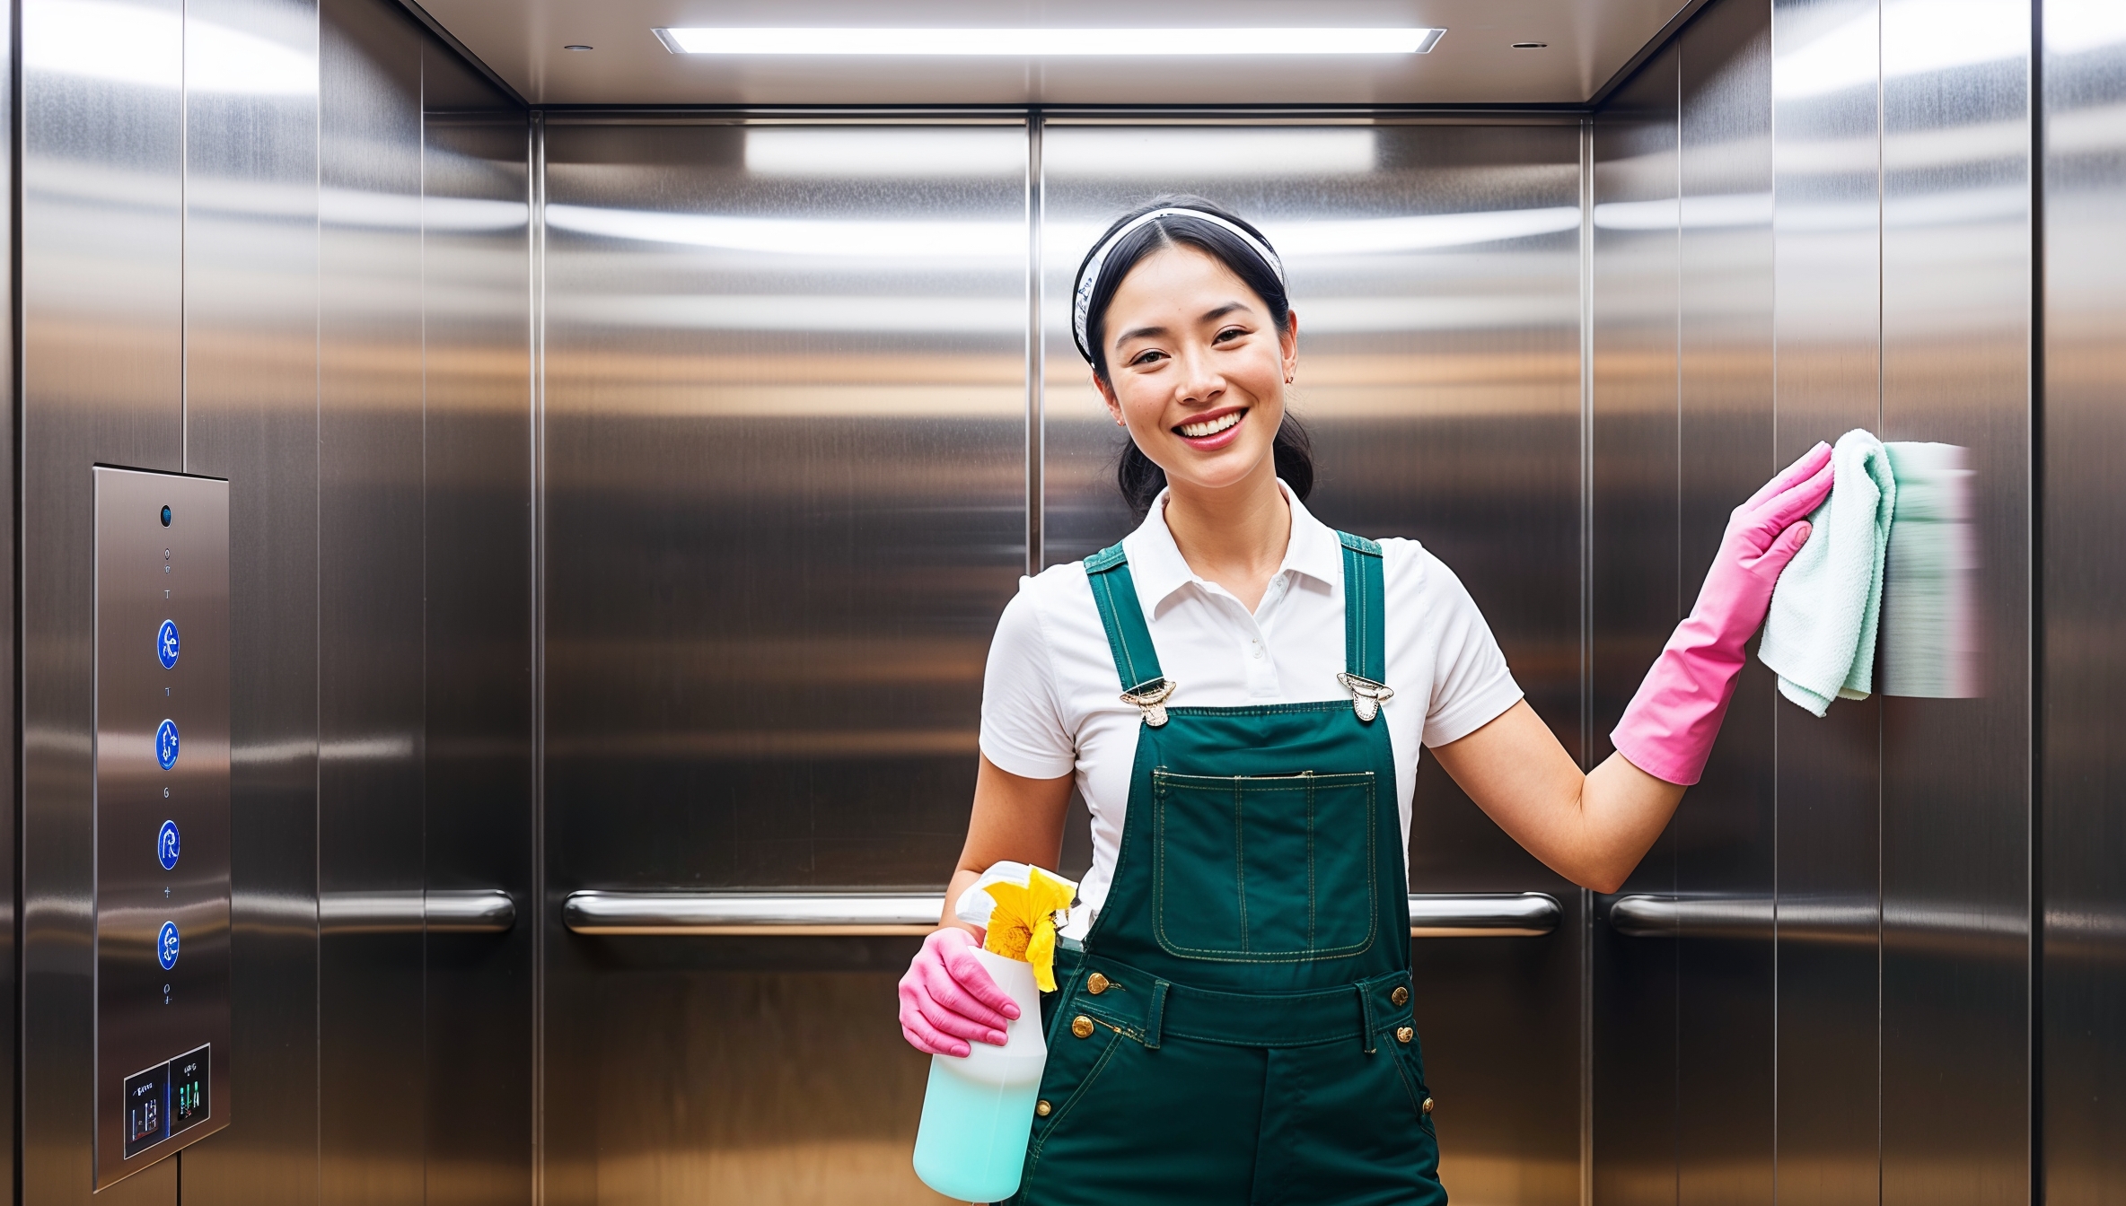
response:
[[[1884,444],[1896,520],[1882,597],[1882,692],[1979,694],[1977,537],[1971,469],[1956,444]]]

